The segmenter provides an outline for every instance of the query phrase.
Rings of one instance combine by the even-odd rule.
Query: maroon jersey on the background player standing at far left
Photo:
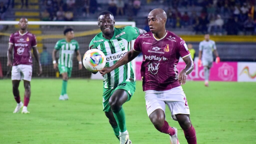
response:
[[[11,34],[9,44],[14,46],[13,65],[32,65],[32,47],[36,47],[36,36],[27,32],[20,34],[19,31]]]

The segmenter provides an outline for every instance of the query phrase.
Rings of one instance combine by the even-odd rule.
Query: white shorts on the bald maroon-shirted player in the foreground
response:
[[[181,86],[165,91],[146,90],[145,100],[148,116],[156,109],[162,109],[165,112],[166,105],[174,120],[177,120],[176,114],[190,115],[187,98]]]

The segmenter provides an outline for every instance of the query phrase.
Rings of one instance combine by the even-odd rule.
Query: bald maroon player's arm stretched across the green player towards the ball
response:
[[[136,52],[135,50],[131,49],[129,52],[127,52],[121,59],[119,59],[113,66],[111,67],[104,67],[102,70],[100,70],[101,75],[105,75],[107,73],[110,73],[115,68],[118,68],[124,64],[129,63],[132,61],[135,57],[137,57],[140,54],[140,52]]]

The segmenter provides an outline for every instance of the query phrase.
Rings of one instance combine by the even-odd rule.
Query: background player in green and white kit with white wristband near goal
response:
[[[79,52],[79,44],[76,40],[74,40],[74,31],[72,28],[67,28],[64,30],[65,39],[59,40],[52,52],[52,60],[53,60],[53,67],[54,69],[57,69],[57,66],[59,68],[60,74],[62,75],[62,89],[61,94],[59,97],[59,100],[68,100],[67,95],[67,83],[68,78],[71,77],[71,72],[73,68],[73,54],[76,52],[77,60],[79,63],[79,70],[82,69],[82,61],[81,61],[81,55]],[[59,60],[58,63],[56,62],[56,53],[57,51],[60,51]]]

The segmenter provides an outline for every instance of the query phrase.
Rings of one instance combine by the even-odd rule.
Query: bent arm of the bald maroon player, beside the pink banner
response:
[[[179,82],[181,85],[186,84],[186,76],[194,69],[194,64],[191,55],[184,57],[183,60],[186,63],[186,67],[179,73]]]

